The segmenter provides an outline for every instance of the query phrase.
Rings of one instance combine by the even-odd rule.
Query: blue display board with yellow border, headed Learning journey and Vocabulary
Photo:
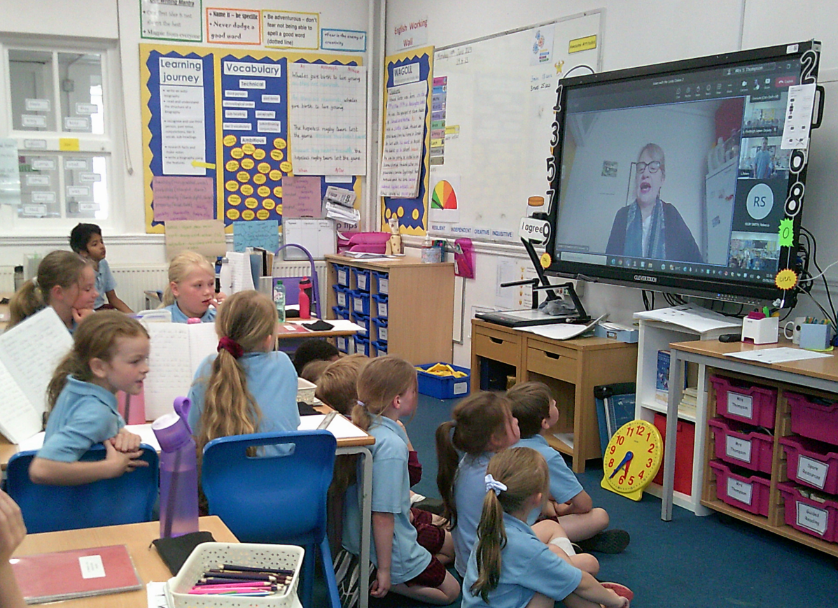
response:
[[[235,221],[281,225],[282,178],[294,174],[289,64],[365,70],[350,55],[158,44],[141,44],[140,54],[149,233],[164,232],[167,219],[223,219],[228,232]],[[365,98],[363,87],[356,92]],[[321,120],[343,126],[339,112]],[[340,161],[331,169],[321,198],[336,184],[360,198],[364,167]]]

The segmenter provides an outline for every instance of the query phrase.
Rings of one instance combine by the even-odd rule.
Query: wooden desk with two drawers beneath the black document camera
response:
[[[550,386],[559,408],[559,421],[546,435],[556,450],[573,457],[573,471],[585,471],[585,461],[601,458],[597,384],[634,382],[637,344],[604,337],[553,340],[511,327],[472,319],[471,389],[480,389],[481,365],[504,363],[517,382],[538,380]],[[510,375],[512,375],[510,374]],[[505,387],[499,387],[505,388]],[[572,433],[573,445],[554,433]]]

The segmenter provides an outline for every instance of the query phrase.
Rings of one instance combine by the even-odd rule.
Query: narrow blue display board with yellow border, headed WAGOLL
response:
[[[385,149],[379,176],[379,192],[385,194],[381,196],[381,229],[384,232],[390,231],[387,222],[392,217],[399,220],[399,230],[402,234],[422,235],[426,232],[432,116],[432,88],[429,81],[432,74],[433,47],[411,49],[385,58]],[[391,102],[400,106],[397,112],[394,112]],[[391,116],[389,121],[388,111]],[[401,116],[396,116],[396,113]],[[421,129],[414,129],[411,121],[418,121]],[[422,132],[417,137],[419,131]],[[409,189],[406,188],[407,177],[416,175],[411,173],[409,165],[416,156],[419,161],[416,188]],[[388,162],[386,166],[384,161]],[[399,194],[400,198],[393,194]]]

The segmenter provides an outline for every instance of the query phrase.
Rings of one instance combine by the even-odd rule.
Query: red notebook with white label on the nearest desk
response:
[[[27,604],[142,589],[124,544],[13,557]]]

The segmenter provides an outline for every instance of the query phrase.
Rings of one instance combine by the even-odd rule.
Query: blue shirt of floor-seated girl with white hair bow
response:
[[[535,536],[532,528],[504,513],[506,546],[500,551],[498,586],[489,591],[489,603],[473,595],[477,582],[477,552],[468,558],[463,577],[463,608],[524,608],[533,595],[541,593],[553,600],[564,600],[582,582],[582,570],[554,554]]]

